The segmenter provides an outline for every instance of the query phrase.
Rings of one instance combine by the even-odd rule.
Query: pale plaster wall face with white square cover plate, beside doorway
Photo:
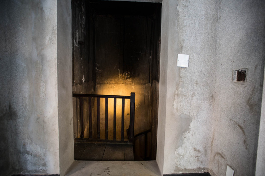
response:
[[[212,69],[215,68],[216,2],[168,3],[169,85],[163,173],[205,172],[210,154],[215,82]],[[188,68],[176,67],[179,53],[189,54]]]

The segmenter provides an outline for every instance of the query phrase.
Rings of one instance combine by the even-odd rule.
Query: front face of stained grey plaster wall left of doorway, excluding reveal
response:
[[[56,2],[0,11],[1,175],[58,174]]]

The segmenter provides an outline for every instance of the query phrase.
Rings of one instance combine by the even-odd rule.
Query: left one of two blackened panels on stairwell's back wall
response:
[[[97,16],[96,20],[96,82],[117,83],[120,61],[120,19]]]

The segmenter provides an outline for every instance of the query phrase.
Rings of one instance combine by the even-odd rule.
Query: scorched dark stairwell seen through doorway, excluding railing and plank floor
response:
[[[135,160],[156,160],[160,31],[161,3],[72,1],[73,93],[130,95],[135,92]],[[84,138],[88,138],[89,131],[87,103],[84,100]],[[112,102],[109,103],[108,107],[111,107]],[[96,101],[92,100],[92,104]],[[117,109],[119,104],[117,102]],[[80,112],[77,98],[73,98],[73,111],[74,137],[78,139]],[[102,106],[102,139],[105,136],[104,113]],[[126,128],[129,113],[125,107]],[[96,139],[95,108],[92,108],[92,114],[92,139]],[[120,116],[117,113],[117,140],[121,139]],[[111,124],[111,114],[108,118]],[[113,126],[109,125],[108,131],[108,138],[113,138]]]

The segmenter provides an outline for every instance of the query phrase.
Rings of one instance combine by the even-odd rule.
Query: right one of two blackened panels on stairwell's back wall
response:
[[[151,19],[125,16],[124,31],[123,69],[130,76],[124,82],[149,83]]]

